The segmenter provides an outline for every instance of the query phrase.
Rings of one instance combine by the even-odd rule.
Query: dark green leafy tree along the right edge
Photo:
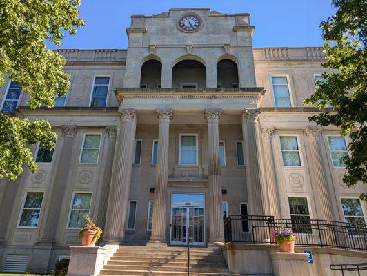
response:
[[[367,0],[333,0],[333,5],[337,12],[321,23],[327,57],[322,66],[331,71],[304,103],[320,109],[330,103],[333,111],[313,115],[310,121],[339,126],[341,135],[350,135],[350,155],[343,159],[348,172],[343,181],[350,187],[367,182]],[[367,201],[367,194],[361,199]]]

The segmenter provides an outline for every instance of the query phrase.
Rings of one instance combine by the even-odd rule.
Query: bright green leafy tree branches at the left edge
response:
[[[32,109],[42,104],[51,108],[55,97],[68,92],[65,59],[48,50],[45,42],[60,46],[63,32],[75,34],[84,25],[79,4],[79,0],[0,1],[0,86],[5,77],[17,82],[30,95]],[[51,150],[56,137],[48,121],[0,112],[0,178],[17,179],[24,164],[36,171],[28,146],[40,141]]]

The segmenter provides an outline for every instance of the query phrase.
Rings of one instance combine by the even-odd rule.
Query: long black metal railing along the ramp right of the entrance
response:
[[[224,221],[224,239],[233,243],[275,244],[271,233],[277,228],[287,228],[297,233],[296,246],[367,251],[366,224],[348,224],[301,216],[275,219],[271,216],[230,215]]]

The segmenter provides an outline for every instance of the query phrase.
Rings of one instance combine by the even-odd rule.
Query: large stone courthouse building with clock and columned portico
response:
[[[159,248],[224,244],[228,215],[364,224],[366,188],[342,181],[348,137],[302,104],[322,48],[253,48],[254,30],[208,8],[132,16],[127,49],[57,50],[71,88],[54,108],[30,110],[8,80],[1,110],[58,138],[32,146],[36,173],[0,179],[0,271],[52,269],[86,213],[101,245]]]

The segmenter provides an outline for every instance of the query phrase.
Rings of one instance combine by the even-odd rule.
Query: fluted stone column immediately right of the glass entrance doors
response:
[[[208,121],[209,157],[209,243],[224,242],[223,215],[221,210],[221,161],[219,157],[219,115],[220,109],[205,110]]]

